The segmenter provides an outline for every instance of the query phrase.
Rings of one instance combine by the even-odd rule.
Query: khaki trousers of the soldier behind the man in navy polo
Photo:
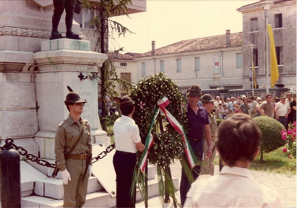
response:
[[[216,157],[217,154],[217,148],[214,146],[214,140],[211,141],[211,151],[212,155],[210,158],[205,158],[206,157],[206,152],[208,150],[207,142],[204,139],[203,142],[203,154],[204,154],[204,159],[203,161],[206,162],[206,164],[203,164],[201,166],[201,175],[202,174],[208,174],[208,175],[214,175],[214,158]]]

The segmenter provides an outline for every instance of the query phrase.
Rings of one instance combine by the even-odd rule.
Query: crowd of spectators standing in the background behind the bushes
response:
[[[296,121],[296,93],[288,91],[280,98],[267,94],[264,99],[260,97],[237,96],[227,98],[216,97],[212,109],[218,119],[225,119],[233,113],[244,113],[252,118],[257,116],[268,116],[277,119],[286,128],[288,123]]]

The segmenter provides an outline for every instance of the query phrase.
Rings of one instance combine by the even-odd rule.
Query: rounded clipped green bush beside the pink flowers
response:
[[[285,127],[276,119],[268,116],[259,116],[253,118],[253,120],[262,132],[261,150],[263,150],[264,153],[269,153],[285,145],[285,141],[282,140],[281,135],[281,131],[285,129]]]

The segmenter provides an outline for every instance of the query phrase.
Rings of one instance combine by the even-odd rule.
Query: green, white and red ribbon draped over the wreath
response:
[[[189,144],[189,141],[188,141],[187,135],[185,134],[184,128],[180,125],[180,123],[178,123],[176,118],[174,118],[173,115],[170,112],[168,112],[168,110],[165,109],[165,107],[168,106],[169,103],[170,102],[169,102],[167,97],[164,97],[163,99],[161,99],[161,100],[159,100],[157,102],[158,107],[156,107],[155,110],[154,110],[153,119],[151,121],[148,134],[146,136],[146,147],[145,147],[145,150],[143,151],[143,154],[142,154],[142,156],[140,158],[140,161],[139,161],[139,167],[141,169],[141,172],[144,172],[144,168],[145,168],[146,162],[147,162],[147,152],[148,152],[149,148],[154,143],[154,138],[153,138],[153,136],[151,134],[151,128],[153,127],[153,125],[155,123],[155,120],[157,118],[157,115],[159,113],[160,108],[164,112],[164,114],[166,115],[166,118],[168,119],[170,124],[173,126],[173,128],[180,135],[182,135],[184,150],[185,150],[185,153],[187,155],[187,159],[188,159],[190,167],[193,168],[198,163],[197,158],[196,158],[196,156],[195,156],[195,154],[194,154],[194,152],[192,150],[192,147]]]

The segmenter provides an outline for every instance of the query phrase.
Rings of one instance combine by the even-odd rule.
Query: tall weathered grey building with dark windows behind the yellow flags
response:
[[[270,0],[268,24],[273,28],[278,61],[279,87],[296,85],[296,1]],[[252,85],[251,50],[255,45],[253,60],[256,68],[256,82],[260,88],[266,87],[266,20],[264,1],[258,1],[237,9],[243,15],[243,85]],[[268,75],[270,85],[270,41],[268,40]],[[270,87],[270,86],[269,86]]]

